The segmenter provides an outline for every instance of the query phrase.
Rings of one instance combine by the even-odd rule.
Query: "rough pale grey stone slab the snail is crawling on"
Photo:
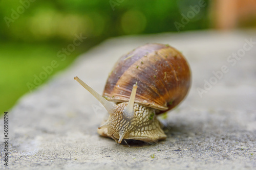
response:
[[[246,45],[245,39],[254,43]],[[128,147],[97,134],[106,111],[73,77],[101,93],[117,59],[147,42],[180,50],[190,64],[193,85],[162,120],[166,140]],[[255,42],[255,31],[166,33],[102,42],[9,111],[8,168],[255,169]],[[232,53],[241,59],[230,60]],[[228,69],[222,78],[212,78],[212,71],[222,67]],[[216,84],[205,86],[200,96],[197,88],[204,89],[205,81]],[[3,148],[1,142],[2,158]],[[6,168],[3,159],[0,167]]]

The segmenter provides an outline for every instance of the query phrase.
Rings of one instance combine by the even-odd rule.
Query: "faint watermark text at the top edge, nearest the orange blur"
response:
[[[189,11],[185,14],[181,14],[181,22],[174,22],[174,26],[176,27],[177,31],[180,32],[180,28],[184,28],[185,25],[187,25],[191,19],[193,19],[199,12],[201,11],[201,8],[204,8],[206,6],[206,2],[204,0],[198,1],[198,5],[189,6]]]

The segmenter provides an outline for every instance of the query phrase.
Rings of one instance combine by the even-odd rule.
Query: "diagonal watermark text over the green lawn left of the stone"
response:
[[[82,33],[80,35],[75,34],[73,43],[67,45],[67,47],[61,48],[60,51],[57,52],[57,57],[60,58],[60,61],[65,61],[67,56],[69,56],[72,52],[76,50],[76,47],[79,46],[87,37],[83,37]],[[42,84],[42,81],[47,79],[53,72],[54,68],[57,68],[59,63],[57,60],[52,60],[48,66],[42,66],[42,70],[39,75],[34,74],[33,83],[28,82],[27,87],[31,92],[34,88]]]

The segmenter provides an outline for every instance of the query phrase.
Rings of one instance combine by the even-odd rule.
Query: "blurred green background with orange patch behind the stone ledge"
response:
[[[202,7],[197,8],[199,5]],[[0,1],[0,108],[8,111],[81,53],[123,35],[256,28],[255,0]],[[76,36],[87,37],[66,55]],[[115,50],[115,47],[113,47]],[[56,60],[44,80],[33,82]],[[31,84],[35,86],[29,86]]]

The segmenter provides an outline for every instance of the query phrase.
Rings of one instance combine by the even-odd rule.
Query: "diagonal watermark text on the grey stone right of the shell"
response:
[[[241,60],[246,52],[250,51],[251,48],[256,44],[256,41],[252,41],[252,38],[245,39],[245,43],[242,48],[240,48],[236,53],[232,53],[232,55],[228,56],[226,61],[229,65],[235,66],[239,60]],[[216,85],[224,76],[224,74],[229,72],[229,68],[227,65],[222,65],[220,70],[212,71],[212,77],[208,80],[204,79],[204,86],[203,88],[198,87],[197,92],[200,98],[203,97],[204,93],[207,93],[209,90],[212,89],[214,85]]]

